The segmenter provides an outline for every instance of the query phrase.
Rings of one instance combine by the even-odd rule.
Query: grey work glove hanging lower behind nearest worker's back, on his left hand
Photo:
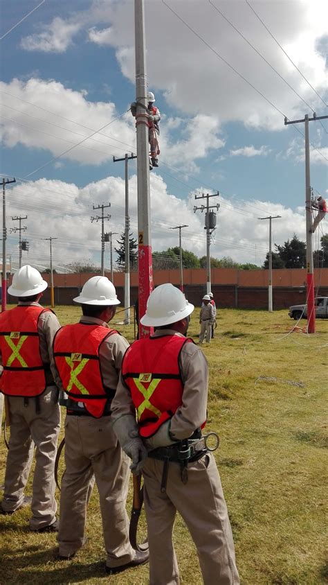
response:
[[[136,419],[132,414],[123,414],[113,421],[113,431],[123,451],[132,460],[130,465],[132,473],[138,475],[147,459],[147,449],[139,435]]]

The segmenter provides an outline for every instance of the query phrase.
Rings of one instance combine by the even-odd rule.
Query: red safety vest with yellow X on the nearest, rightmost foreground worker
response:
[[[125,352],[122,377],[138,412],[139,432],[152,437],[182,404],[180,353],[192,339],[163,335],[138,340]]]

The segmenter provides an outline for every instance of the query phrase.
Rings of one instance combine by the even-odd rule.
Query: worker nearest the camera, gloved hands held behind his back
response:
[[[125,353],[111,405],[113,429],[123,449],[131,450],[134,440],[140,455],[134,471],[142,469],[144,478],[150,585],[180,582],[172,543],[176,510],[196,545],[204,584],[237,585],[224,494],[201,433],[208,365],[201,349],[185,337],[193,310],[170,283],[149,296],[140,322],[153,326],[154,335],[134,342]]]

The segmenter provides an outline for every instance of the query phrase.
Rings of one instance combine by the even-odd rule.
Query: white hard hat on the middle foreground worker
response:
[[[82,305],[119,305],[115,286],[107,277],[92,277],[84,284],[81,294],[73,299]]]

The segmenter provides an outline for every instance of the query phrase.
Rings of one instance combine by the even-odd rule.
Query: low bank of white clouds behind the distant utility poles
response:
[[[182,200],[171,195],[161,175],[151,175],[150,186],[153,250],[161,251],[178,245],[178,234],[170,227],[183,223],[188,225],[183,229],[183,248],[192,250],[197,256],[204,256],[204,213],[194,213],[194,196],[189,195]],[[201,192],[202,189],[199,189]],[[136,175],[130,178],[129,195],[131,231],[136,236]],[[89,183],[82,189],[75,184],[57,180],[17,183],[8,198],[8,216],[17,213],[26,213],[28,216],[25,222],[28,230],[24,236],[30,242],[30,252],[28,256],[24,254],[24,260],[47,266],[48,242],[43,238],[51,235],[58,238],[53,243],[55,265],[63,266],[83,259],[92,259],[99,265],[100,223],[90,222],[90,216],[95,213],[93,204],[111,203],[111,220],[106,222],[105,230],[121,234],[125,225],[124,198],[125,181],[120,177],[107,177]],[[217,201],[221,207],[217,213],[217,230],[212,238],[212,256],[231,256],[239,262],[263,263],[268,250],[268,222],[258,218],[269,213],[282,216],[273,222],[273,243],[282,244],[291,239],[294,233],[302,241],[305,240],[304,210],[300,207],[291,209],[269,201],[241,202],[222,197],[217,198]],[[322,229],[325,230],[325,225],[322,225]],[[10,234],[8,254],[12,254],[14,264],[18,261],[17,244],[17,236]],[[105,265],[109,266],[109,251],[106,252]]]

